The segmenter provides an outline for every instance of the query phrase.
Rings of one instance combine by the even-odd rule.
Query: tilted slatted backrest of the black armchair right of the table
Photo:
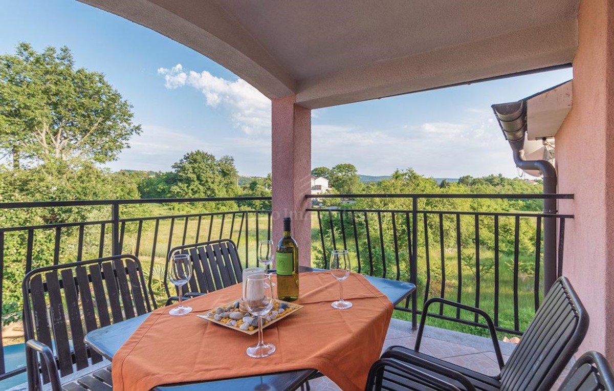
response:
[[[559,277],[501,370],[502,389],[550,390],[588,330],[588,313]]]

